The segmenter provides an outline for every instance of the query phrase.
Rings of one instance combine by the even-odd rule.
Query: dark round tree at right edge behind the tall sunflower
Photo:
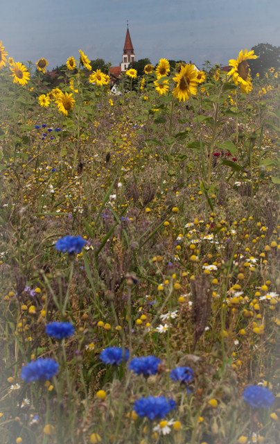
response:
[[[259,56],[256,59],[249,60],[249,66],[252,76],[256,76],[259,73],[260,77],[263,77],[265,71],[274,67],[278,69],[280,67],[280,46],[272,46],[269,43],[259,43],[252,47],[252,51]]]

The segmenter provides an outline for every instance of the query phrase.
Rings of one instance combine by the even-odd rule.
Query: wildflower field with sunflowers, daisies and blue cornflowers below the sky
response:
[[[236,56],[235,54],[232,55]],[[280,436],[280,72],[51,88],[0,42],[0,441]]]

